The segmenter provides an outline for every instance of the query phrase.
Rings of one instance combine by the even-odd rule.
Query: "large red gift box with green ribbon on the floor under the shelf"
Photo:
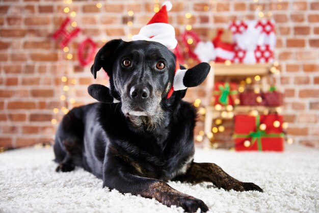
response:
[[[236,151],[283,151],[283,118],[278,114],[235,116]]]

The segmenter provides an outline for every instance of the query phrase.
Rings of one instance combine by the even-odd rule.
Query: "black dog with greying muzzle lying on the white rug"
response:
[[[89,87],[89,93],[104,103],[74,108],[63,118],[54,145],[57,171],[81,166],[101,178],[103,187],[155,198],[190,212],[208,208],[165,181],[210,181],[226,190],[262,192],[215,164],[193,162],[196,110],[181,100],[186,90],[174,91],[167,98],[175,66],[174,54],[157,42],[112,40],[105,44],[91,72],[96,77],[101,68],[107,71],[110,90],[101,85]],[[190,69],[185,86],[202,83],[209,69],[207,63]],[[113,98],[120,102],[105,103]]]

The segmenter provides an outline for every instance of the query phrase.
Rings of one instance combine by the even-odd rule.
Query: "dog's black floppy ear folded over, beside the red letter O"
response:
[[[94,64],[91,67],[94,78],[96,78],[96,72],[102,67],[108,75],[111,76],[114,56],[116,55],[115,52],[123,46],[124,43],[126,42],[121,39],[111,40],[98,50],[94,59]]]

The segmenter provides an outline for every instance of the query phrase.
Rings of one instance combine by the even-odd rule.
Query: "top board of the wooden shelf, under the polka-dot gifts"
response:
[[[249,75],[268,75],[270,64],[230,64],[214,63],[211,64],[211,71],[214,70],[215,76],[249,76]]]

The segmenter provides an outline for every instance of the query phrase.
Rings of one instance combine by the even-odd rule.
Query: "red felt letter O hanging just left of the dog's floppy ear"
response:
[[[86,58],[84,58],[85,57],[84,50],[86,45],[89,45],[89,50],[88,50],[88,54]],[[79,63],[82,66],[88,65],[94,58],[95,50],[96,50],[96,44],[90,38],[87,38],[81,44],[79,44],[77,49],[77,56],[78,56]]]

